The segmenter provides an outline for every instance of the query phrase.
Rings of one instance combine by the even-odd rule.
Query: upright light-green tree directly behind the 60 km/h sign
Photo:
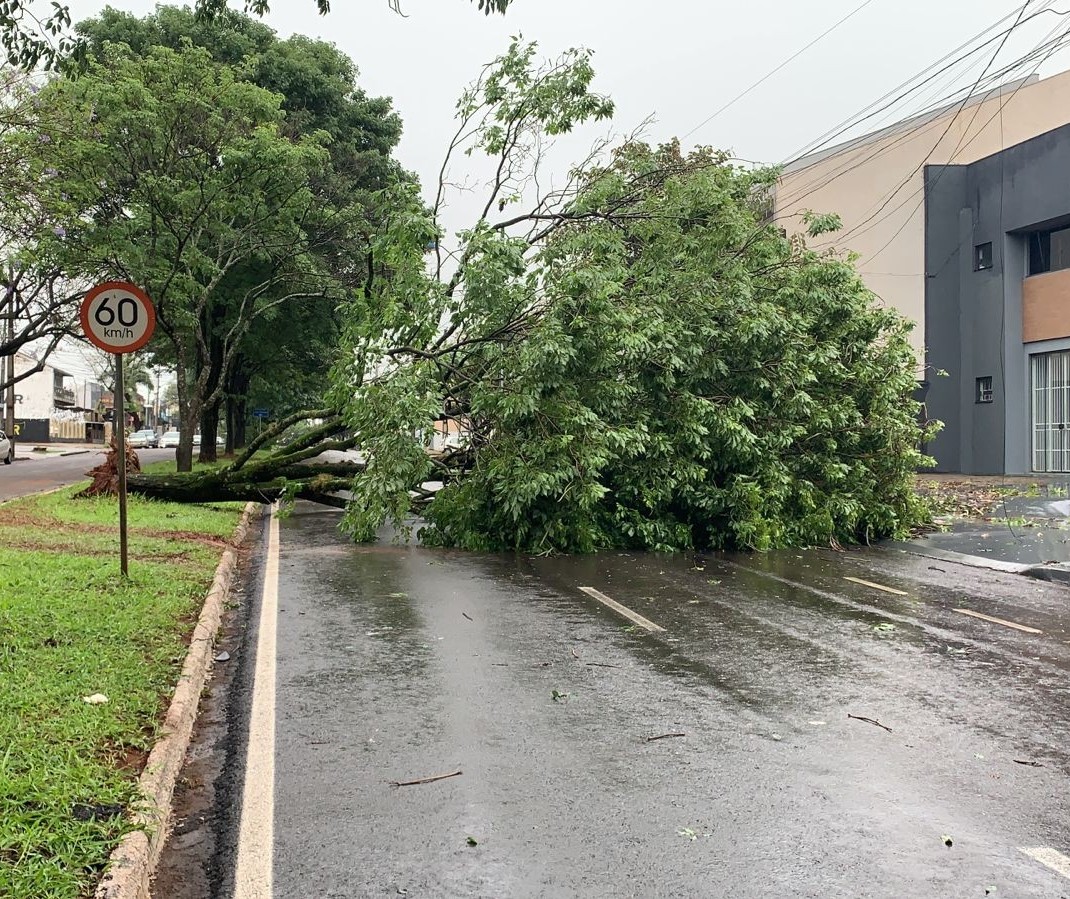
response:
[[[34,171],[57,172],[56,213],[71,225],[62,238],[44,229],[37,244],[56,244],[67,272],[121,277],[153,298],[177,361],[188,471],[201,411],[223,395],[213,372],[251,323],[285,303],[340,296],[322,247],[352,223],[312,191],[327,166],[321,136],[282,134],[278,95],[194,47],[135,57],[109,46],[40,102],[49,120],[21,150]]]

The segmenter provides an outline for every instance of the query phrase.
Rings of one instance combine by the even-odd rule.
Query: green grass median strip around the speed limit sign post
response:
[[[122,582],[116,501],[77,489],[0,505],[4,899],[92,894],[241,508],[131,498]]]

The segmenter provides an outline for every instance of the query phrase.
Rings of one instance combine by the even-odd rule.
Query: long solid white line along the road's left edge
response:
[[[275,837],[275,643],[278,624],[278,518],[273,511],[260,601],[249,747],[238,832],[234,899],[271,899]]]

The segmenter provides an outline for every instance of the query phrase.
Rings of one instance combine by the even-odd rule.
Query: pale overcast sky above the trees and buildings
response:
[[[547,55],[571,46],[593,49],[596,89],[616,102],[616,132],[654,116],[647,134],[656,141],[691,132],[861,2],[514,0],[506,16],[486,17],[468,0],[401,0],[407,13],[401,17],[387,0],[335,0],[334,10],[320,17],[314,0],[276,0],[266,21],[284,36],[301,32],[334,42],[356,62],[368,93],[393,97],[404,123],[398,155],[419,174],[426,192],[452,134],[458,94],[513,34],[538,41]],[[77,21],[104,5],[72,0],[72,16]],[[110,5],[139,15],[154,7],[147,0]],[[686,143],[783,162],[1020,5],[1011,0],[870,0]],[[1034,0],[1033,9],[1040,5]],[[1045,16],[1022,29],[1000,60],[1014,58],[1056,24]],[[1068,65],[1067,56],[1057,56],[1041,74]],[[973,77],[979,73],[980,65]],[[603,125],[593,126],[567,149],[579,156],[606,132]],[[457,201],[450,226],[465,224],[467,204],[463,197]]]

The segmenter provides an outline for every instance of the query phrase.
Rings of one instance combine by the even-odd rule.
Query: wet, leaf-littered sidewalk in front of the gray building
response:
[[[893,544],[907,552],[1070,583],[1070,483],[1048,478],[930,476],[988,501],[981,517],[937,519],[946,530]],[[1000,496],[1000,493],[1003,496]]]

